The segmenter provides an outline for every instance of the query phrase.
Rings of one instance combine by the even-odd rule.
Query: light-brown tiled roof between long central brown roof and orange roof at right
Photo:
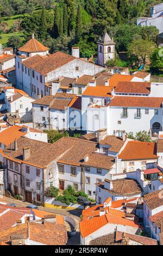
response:
[[[103,168],[109,170],[115,164],[115,158],[101,153],[92,153],[89,160],[84,162],[84,166]]]

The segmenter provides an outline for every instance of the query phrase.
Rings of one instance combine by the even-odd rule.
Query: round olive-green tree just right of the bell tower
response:
[[[146,65],[147,56],[150,56],[155,49],[155,44],[149,40],[136,39],[128,47],[128,56],[136,56]]]

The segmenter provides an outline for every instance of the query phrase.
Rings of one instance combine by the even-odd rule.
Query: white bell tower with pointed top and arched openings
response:
[[[115,42],[108,33],[99,38],[98,45],[98,65],[105,66],[107,60],[115,59]]]

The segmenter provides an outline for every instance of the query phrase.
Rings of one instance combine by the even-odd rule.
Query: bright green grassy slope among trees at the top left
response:
[[[26,17],[27,14],[22,15],[22,14],[18,14],[18,15],[14,15],[11,17],[1,17],[0,18],[0,22],[1,21],[7,21],[9,28],[11,28],[14,25],[14,22],[17,21],[18,19],[23,19],[24,17]],[[13,34],[17,34],[18,36],[21,36],[21,38],[23,39],[23,32],[19,31],[19,32],[14,32],[14,33],[2,33],[2,39],[0,39],[0,44],[7,44],[8,39],[11,35]]]

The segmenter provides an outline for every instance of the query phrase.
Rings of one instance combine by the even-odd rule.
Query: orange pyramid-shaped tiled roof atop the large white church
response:
[[[30,39],[26,44],[24,44],[22,47],[18,48],[18,51],[20,52],[45,52],[49,50],[48,47],[44,46],[36,40],[35,38]]]

